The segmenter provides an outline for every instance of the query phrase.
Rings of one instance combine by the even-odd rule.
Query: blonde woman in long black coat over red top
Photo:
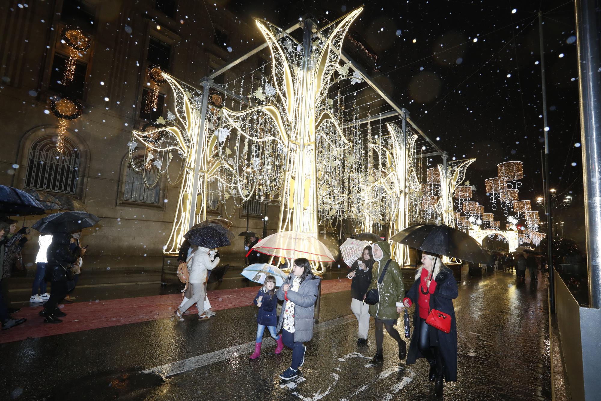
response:
[[[458,293],[457,282],[438,255],[424,253],[421,262],[422,266],[415,272],[415,282],[403,299],[406,308],[415,304],[407,365],[415,364],[417,358],[426,358],[430,364],[430,381],[436,381],[436,394],[442,396],[443,379],[457,381],[457,327],[453,307],[453,299]],[[427,325],[431,309],[451,316],[450,332]]]

